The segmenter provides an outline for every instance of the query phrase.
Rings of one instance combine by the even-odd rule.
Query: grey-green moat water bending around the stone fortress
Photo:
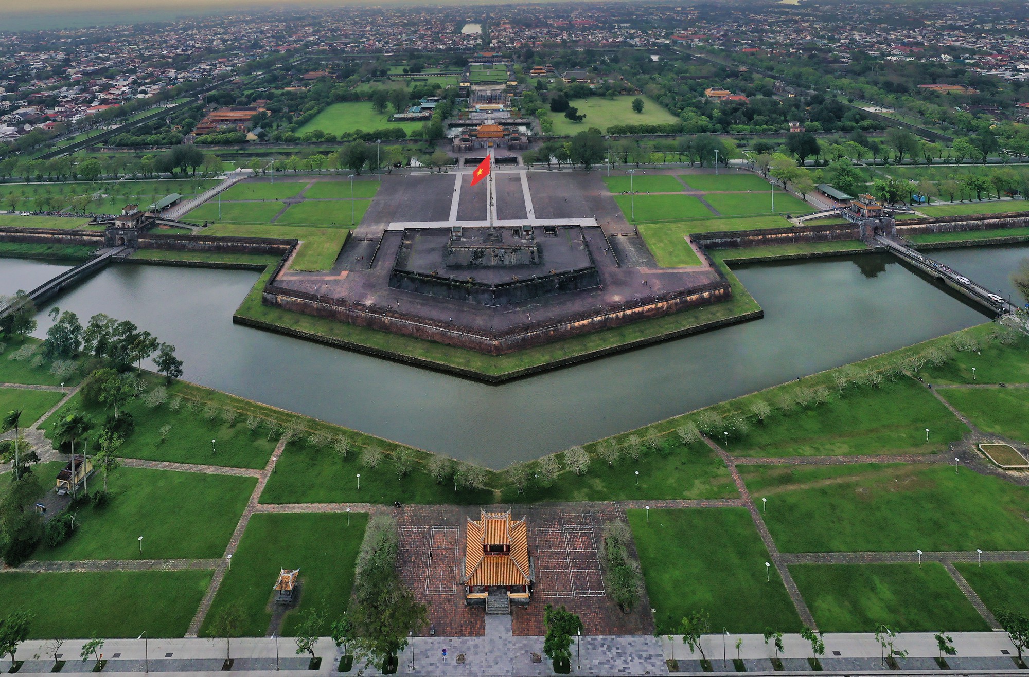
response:
[[[934,254],[1007,294],[1029,247]],[[25,270],[0,261],[0,290]],[[987,320],[887,255],[736,272],[764,319],[499,386],[234,325],[255,273],[116,264],[55,304],[150,330],[196,383],[494,468]]]

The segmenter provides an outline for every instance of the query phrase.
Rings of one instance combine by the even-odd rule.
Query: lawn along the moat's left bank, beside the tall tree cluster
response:
[[[125,436],[119,456],[237,468],[263,468],[268,463],[278,439],[270,439],[268,431],[258,427],[262,420],[250,420],[252,415],[240,411],[241,400],[208,390],[199,391],[198,397],[198,391],[182,383],[166,389],[161,396],[157,389],[164,388],[164,380],[154,379],[152,383],[155,385],[148,392],[119,406],[119,414],[132,415],[135,424]],[[97,429],[82,438],[96,449],[100,423],[111,409],[85,400],[81,392],[43,424],[47,436],[72,412],[83,412],[96,423]]]

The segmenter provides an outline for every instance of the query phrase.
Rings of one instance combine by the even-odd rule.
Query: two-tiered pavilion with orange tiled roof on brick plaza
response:
[[[490,598],[500,598],[505,606],[528,604],[533,571],[525,519],[512,521],[510,510],[481,513],[477,522],[468,518],[465,603],[490,606]]]

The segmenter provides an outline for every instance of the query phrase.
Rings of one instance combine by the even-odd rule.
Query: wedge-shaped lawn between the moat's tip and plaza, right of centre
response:
[[[623,439],[624,441],[624,439]],[[560,459],[560,456],[559,456]],[[635,471],[639,470],[639,484]],[[530,473],[532,468],[530,466]],[[674,435],[665,437],[661,451],[637,460],[623,457],[613,466],[594,457],[581,475],[565,471],[553,486],[530,483],[524,494],[504,489],[501,502],[622,501],[636,499],[739,498],[725,464],[707,444],[683,447]]]

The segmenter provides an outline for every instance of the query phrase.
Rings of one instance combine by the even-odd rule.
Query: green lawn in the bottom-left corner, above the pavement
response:
[[[146,632],[153,640],[185,635],[210,582],[211,572],[200,570],[7,571],[0,574],[0,596],[7,609],[33,614],[31,639],[135,639]],[[19,651],[19,658],[28,657],[28,651]],[[65,661],[77,657],[65,649]]]

